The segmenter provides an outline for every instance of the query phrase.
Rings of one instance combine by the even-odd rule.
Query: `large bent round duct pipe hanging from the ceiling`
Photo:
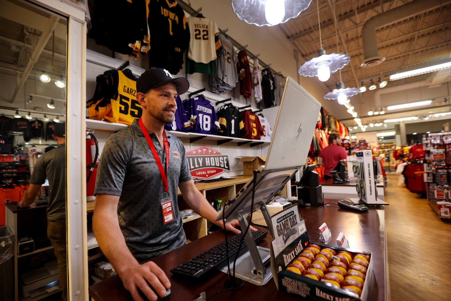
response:
[[[361,66],[376,66],[385,60],[385,57],[379,56],[377,53],[377,28],[408,19],[449,3],[451,3],[451,0],[414,0],[369,19],[362,28],[364,62]]]

